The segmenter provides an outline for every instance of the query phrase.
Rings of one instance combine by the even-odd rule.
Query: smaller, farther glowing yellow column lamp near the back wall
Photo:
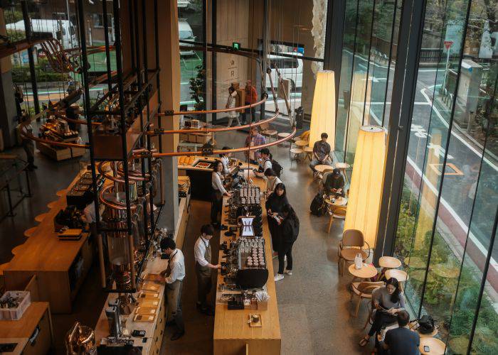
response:
[[[320,140],[322,133],[327,133],[328,143],[334,150],[336,133],[336,89],[332,70],[317,73],[314,86],[311,126],[309,128],[309,146]]]

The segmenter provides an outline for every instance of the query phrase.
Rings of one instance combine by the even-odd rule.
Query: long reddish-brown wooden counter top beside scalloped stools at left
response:
[[[53,204],[33,235],[23,244],[21,253],[17,253],[6,268],[9,271],[68,271],[81,246],[88,238],[83,233],[79,241],[59,241],[54,231],[53,219],[60,209],[65,209],[66,193],[80,180],[78,174],[64,194]]]

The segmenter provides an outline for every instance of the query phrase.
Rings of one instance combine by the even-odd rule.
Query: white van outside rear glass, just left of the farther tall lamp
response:
[[[295,55],[295,58],[282,57],[281,55],[268,55],[270,60],[270,68],[272,70],[272,80],[275,87],[277,87],[278,76],[275,65],[282,75],[282,79],[289,79],[292,86],[292,91],[297,87],[302,87],[302,57],[301,53],[282,53],[286,55]],[[270,87],[270,80],[267,80],[267,87]]]

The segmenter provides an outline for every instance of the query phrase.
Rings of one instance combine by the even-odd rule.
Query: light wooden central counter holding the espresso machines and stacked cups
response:
[[[251,166],[254,167],[254,166]],[[248,171],[249,179],[254,185],[258,185],[262,192],[265,191],[265,180],[255,178],[252,171]],[[248,180],[249,180],[248,179]],[[214,354],[241,354],[240,351],[248,346],[248,354],[280,354],[280,320],[278,317],[277,293],[275,281],[273,280],[272,248],[270,231],[267,226],[266,210],[263,203],[263,237],[265,239],[265,253],[267,258],[268,280],[266,283],[267,293],[270,295],[267,310],[228,310],[224,304],[216,304],[214,319]],[[227,207],[226,199],[223,200],[222,224],[226,223]],[[222,231],[220,243],[233,240],[224,235]],[[219,260],[223,251],[220,251]],[[217,286],[223,283],[221,271],[218,271]],[[217,288],[218,289],[218,288]],[[250,313],[261,315],[262,327],[250,327],[247,323]]]

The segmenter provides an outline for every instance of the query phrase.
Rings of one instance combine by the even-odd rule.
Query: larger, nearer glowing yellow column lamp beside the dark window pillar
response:
[[[371,248],[377,239],[385,160],[386,131],[378,126],[362,126],[356,143],[344,230],[358,229]]]

